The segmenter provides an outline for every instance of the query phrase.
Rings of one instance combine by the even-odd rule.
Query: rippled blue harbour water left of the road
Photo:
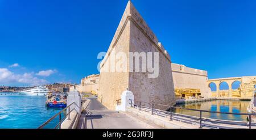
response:
[[[1,94],[0,129],[35,129],[61,111],[61,109],[47,109],[44,96]],[[59,117],[46,128],[54,128],[58,121]]]

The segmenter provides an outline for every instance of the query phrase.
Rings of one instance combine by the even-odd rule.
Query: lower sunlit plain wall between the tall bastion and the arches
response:
[[[211,96],[207,84],[207,71],[172,63],[172,75],[174,77],[175,88],[200,89],[201,96]]]

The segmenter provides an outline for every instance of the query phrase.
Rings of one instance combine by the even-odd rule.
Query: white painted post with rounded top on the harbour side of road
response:
[[[75,103],[75,104],[71,105],[71,107],[69,107],[70,111],[72,111],[75,108],[75,110],[79,114],[81,114],[81,109],[82,109],[81,108],[81,106],[82,106],[81,101],[82,101],[82,97],[76,89],[74,89],[74,90],[72,90],[68,93],[67,106],[71,105],[72,103]],[[69,112],[69,110],[67,108],[67,113],[68,112]]]

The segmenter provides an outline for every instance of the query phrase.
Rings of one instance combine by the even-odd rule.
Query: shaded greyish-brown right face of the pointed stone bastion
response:
[[[138,14],[135,14],[138,16]],[[139,18],[138,18],[139,19]],[[143,33],[136,23],[131,22],[131,43],[130,52],[158,52],[159,53],[159,77],[150,79],[146,73],[130,73],[129,90],[134,94],[134,100],[146,101],[154,104],[174,105],[174,83],[172,80],[172,67],[170,57],[160,50],[160,46],[155,44],[154,36],[148,37],[148,33]],[[146,27],[145,27],[146,28]],[[150,35],[152,35],[150,33]],[[163,49],[163,48],[162,48]],[[155,59],[153,59],[154,63]],[[155,106],[155,108],[166,109]]]

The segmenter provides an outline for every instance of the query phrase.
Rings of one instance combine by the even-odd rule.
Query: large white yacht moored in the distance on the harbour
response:
[[[46,96],[49,90],[46,87],[35,87],[30,88],[24,91],[20,91],[22,95],[37,95],[37,96]]]

